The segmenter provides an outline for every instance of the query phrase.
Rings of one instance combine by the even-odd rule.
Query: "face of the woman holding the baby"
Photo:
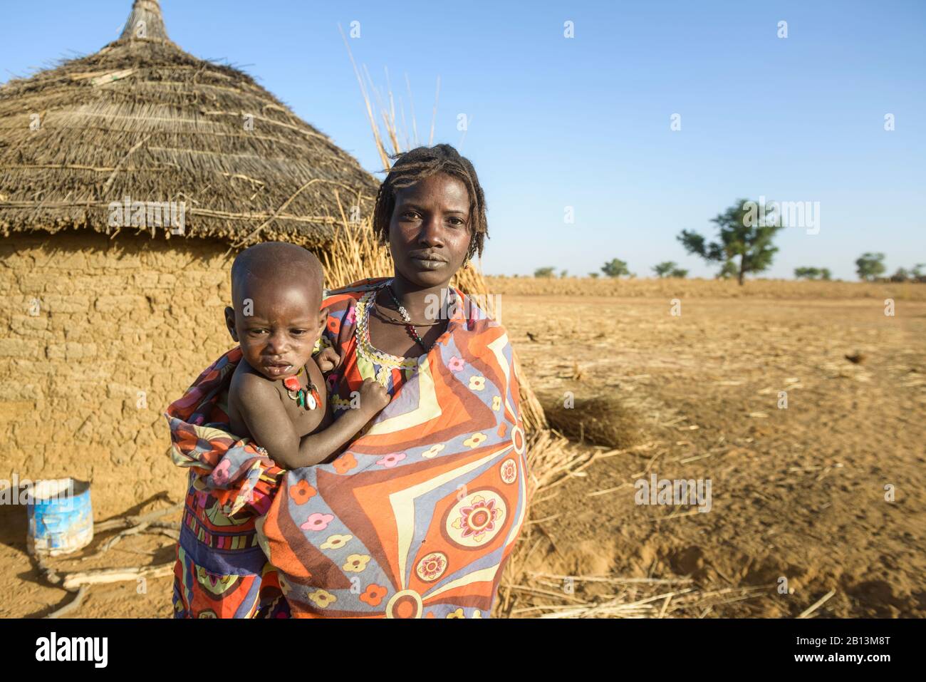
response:
[[[462,181],[436,173],[395,191],[389,250],[395,274],[422,288],[444,286],[469,250],[469,192]]]

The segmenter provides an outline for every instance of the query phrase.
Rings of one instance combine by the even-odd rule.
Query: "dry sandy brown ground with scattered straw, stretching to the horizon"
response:
[[[796,616],[828,595],[814,617],[926,615],[926,286],[804,284],[776,296],[784,290],[768,283],[748,293],[727,283],[641,282],[626,292],[569,283],[567,297],[556,284],[530,295],[528,284],[490,279],[523,372],[544,405],[567,391],[577,403],[605,397],[637,428],[538,493],[519,567],[533,587],[507,594],[511,615],[600,602],[618,579],[632,579],[620,587],[627,601],[669,595],[652,602],[668,616]],[[709,479],[710,510],[636,504],[634,482],[651,474]],[[166,505],[126,499],[125,512]],[[24,538],[24,511],[0,508],[0,616],[43,615],[69,600],[38,578]],[[172,556],[169,538],[138,536],[54,565]],[[574,591],[564,592],[564,576]],[[74,615],[167,617],[170,584],[94,586]],[[670,587],[654,591],[661,584]],[[682,590],[714,597],[686,602]]]

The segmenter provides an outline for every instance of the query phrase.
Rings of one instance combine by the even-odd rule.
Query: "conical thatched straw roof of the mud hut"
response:
[[[0,87],[4,235],[133,232],[110,226],[110,202],[129,196],[185,202],[186,236],[326,246],[335,192],[345,212],[359,196],[366,216],[376,189],[250,76],[172,43],[156,0],[135,0],[96,54]]]

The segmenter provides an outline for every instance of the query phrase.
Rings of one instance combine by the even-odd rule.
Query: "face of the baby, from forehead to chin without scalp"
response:
[[[250,280],[237,294],[226,323],[244,360],[268,379],[293,376],[311,359],[327,317],[319,287]]]

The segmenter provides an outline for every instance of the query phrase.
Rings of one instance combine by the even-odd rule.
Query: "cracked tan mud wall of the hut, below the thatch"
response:
[[[162,413],[232,347],[227,246],[59,233],[0,239],[0,479],[90,480],[97,520],[180,500]]]

